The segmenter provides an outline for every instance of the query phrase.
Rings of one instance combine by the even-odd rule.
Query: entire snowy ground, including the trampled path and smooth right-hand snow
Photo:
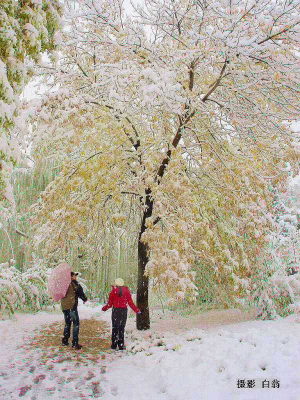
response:
[[[128,318],[125,352],[109,349],[110,311],[81,305],[79,315],[77,352],[59,346],[59,310],[0,321],[1,400],[300,398],[299,314],[275,321],[239,310],[157,314],[143,332]]]

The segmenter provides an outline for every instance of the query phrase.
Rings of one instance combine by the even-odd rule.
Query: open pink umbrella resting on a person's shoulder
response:
[[[66,262],[61,262],[52,269],[48,278],[48,293],[53,300],[58,301],[65,296],[71,283],[71,267]]]

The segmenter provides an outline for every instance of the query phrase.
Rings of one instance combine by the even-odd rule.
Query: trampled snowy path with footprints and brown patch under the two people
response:
[[[109,325],[84,311],[80,351],[59,345],[64,326],[61,312],[18,314],[15,321],[1,321],[1,399],[84,399],[104,393],[103,375],[122,354],[109,348]],[[113,387],[107,389],[115,393]]]

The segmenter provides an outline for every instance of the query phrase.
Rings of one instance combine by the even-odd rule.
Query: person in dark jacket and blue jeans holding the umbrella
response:
[[[72,347],[75,350],[79,350],[82,346],[78,344],[78,333],[79,333],[79,315],[77,311],[78,297],[81,300],[86,301],[87,297],[83,292],[82,286],[77,282],[76,276],[78,273],[71,271],[71,283],[67,288],[66,294],[61,299],[61,309],[64,315],[64,329],[61,343],[63,346],[68,345],[68,339],[71,332],[71,323],[73,322],[72,331]]]

